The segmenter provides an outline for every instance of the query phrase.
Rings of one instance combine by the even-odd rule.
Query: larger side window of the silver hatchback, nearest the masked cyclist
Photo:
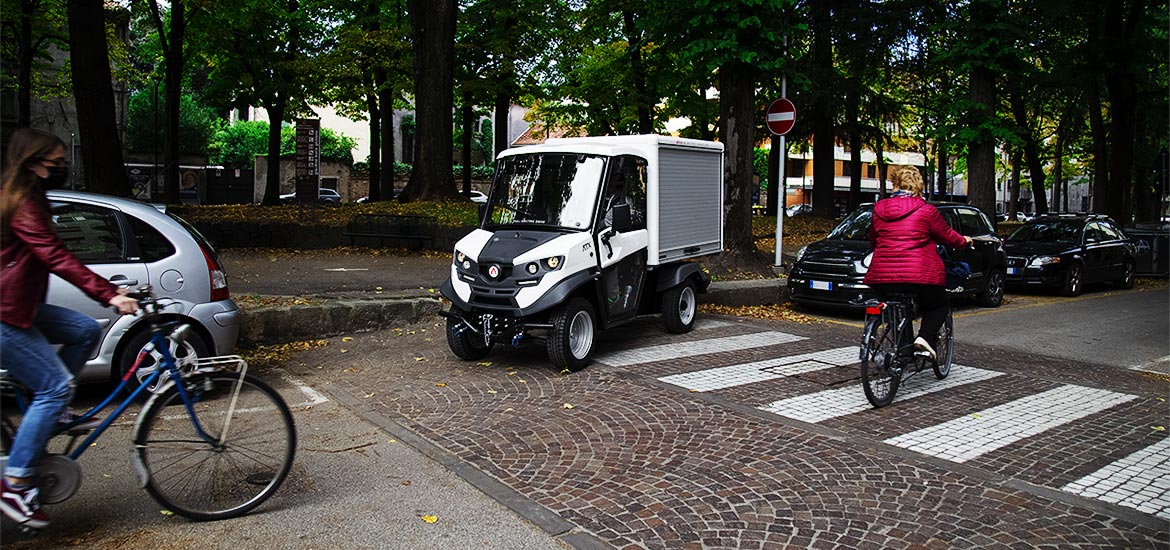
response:
[[[57,236],[82,262],[125,261],[125,239],[116,212],[71,202],[51,202],[49,212]]]

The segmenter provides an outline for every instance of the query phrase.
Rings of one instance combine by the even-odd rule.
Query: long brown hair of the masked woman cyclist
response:
[[[37,198],[37,204],[43,202],[40,178],[28,169],[57,147],[64,147],[64,142],[49,132],[30,128],[13,132],[0,176],[0,243],[7,245],[12,239],[12,219],[20,205],[29,197]]]

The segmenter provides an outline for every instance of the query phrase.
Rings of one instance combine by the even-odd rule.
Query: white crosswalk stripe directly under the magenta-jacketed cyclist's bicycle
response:
[[[856,353],[856,348],[853,348]],[[854,356],[856,358],[856,356]],[[938,380],[934,374],[923,372],[910,378],[897,390],[895,400],[904,401],[928,393],[949,390],[951,387],[971,384],[975,381],[991,379],[1002,376],[1003,372],[976,369],[973,366],[951,365],[950,376]],[[828,419],[856,414],[873,408],[866,399],[865,392],[859,384],[851,384],[847,387],[825,390],[817,393],[780,399],[759,407],[763,411],[779,414],[782,417],[817,424]]]

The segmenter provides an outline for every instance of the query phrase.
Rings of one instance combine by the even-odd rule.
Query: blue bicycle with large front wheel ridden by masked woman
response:
[[[150,397],[142,406],[132,434],[131,467],[139,487],[165,509],[191,520],[226,520],[247,514],[276,493],[292,467],[296,428],[288,405],[271,386],[248,374],[248,363],[239,356],[195,359],[180,369],[168,339],[181,345],[191,326],[163,321],[160,310],[166,305],[153,296],[150,286],[139,287],[129,296],[138,300],[150,323],[151,344],[101,404],[54,431],[53,438],[70,439],[63,452],[46,453],[37,466],[41,503],[55,504],[77,493],[81,487],[77,459],[146,392]],[[123,394],[152,352],[161,357],[159,367],[126,393],[92,432],[76,429]],[[160,378],[165,380],[163,389],[152,394],[147,389]],[[0,378],[0,392],[2,468],[30,392],[8,378]]]

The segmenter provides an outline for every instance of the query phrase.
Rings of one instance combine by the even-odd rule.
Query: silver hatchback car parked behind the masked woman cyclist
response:
[[[180,349],[180,365],[197,357],[228,355],[240,335],[240,308],[228,294],[227,274],[206,239],[165,207],[75,191],[48,193],[57,235],[90,269],[119,286],[150,284],[170,298],[166,316],[192,326]],[[97,319],[102,338],[78,376],[83,381],[122,377],[150,342],[142,316],[119,316],[73,284],[53,275],[47,301]],[[138,379],[159,366],[147,353]],[[159,379],[152,391],[163,386]]]

